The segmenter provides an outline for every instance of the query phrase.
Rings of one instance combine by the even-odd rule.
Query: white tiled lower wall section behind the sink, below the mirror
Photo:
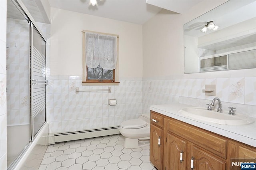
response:
[[[216,96],[206,96],[205,85],[216,85]],[[236,107],[237,113],[256,117],[256,77],[216,79],[143,80],[142,112],[150,105],[182,103],[206,107],[214,97],[219,97],[224,110]]]

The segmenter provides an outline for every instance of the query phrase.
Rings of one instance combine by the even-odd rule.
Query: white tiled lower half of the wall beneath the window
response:
[[[120,77],[119,85],[85,85],[81,76],[50,76],[47,85],[47,121],[50,132],[67,132],[118,126],[142,113],[141,78]],[[108,89],[108,92],[79,92],[75,89]],[[108,105],[116,99],[117,105]],[[149,113],[148,113],[149,114]]]

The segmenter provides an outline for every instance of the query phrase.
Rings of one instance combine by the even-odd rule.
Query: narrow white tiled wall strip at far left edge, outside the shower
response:
[[[7,169],[6,133],[6,0],[0,3],[0,169]]]

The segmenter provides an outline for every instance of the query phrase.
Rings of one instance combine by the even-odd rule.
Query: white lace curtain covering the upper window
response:
[[[100,65],[103,69],[116,68],[117,37],[86,32],[86,65],[95,68]]]

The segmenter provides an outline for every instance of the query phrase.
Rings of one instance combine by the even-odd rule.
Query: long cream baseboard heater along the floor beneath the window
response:
[[[49,133],[48,144],[54,144],[57,142],[66,142],[70,140],[79,140],[79,139],[85,139],[85,138],[108,136],[112,134],[120,134],[119,126],[80,130],[80,131],[74,131],[74,132]]]

